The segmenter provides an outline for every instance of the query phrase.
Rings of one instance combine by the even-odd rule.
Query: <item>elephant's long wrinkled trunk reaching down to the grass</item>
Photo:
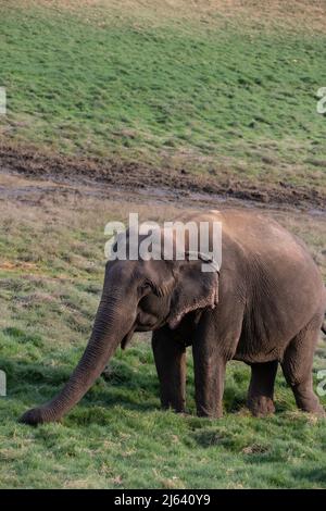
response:
[[[110,297],[102,296],[89,342],[64,388],[45,406],[27,411],[22,416],[22,422],[38,424],[59,421],[100,376],[108,360],[135,321],[135,307],[128,314],[129,320],[126,320],[128,315],[125,307],[122,313],[122,301],[117,294],[120,295],[118,289],[115,292],[111,289]]]

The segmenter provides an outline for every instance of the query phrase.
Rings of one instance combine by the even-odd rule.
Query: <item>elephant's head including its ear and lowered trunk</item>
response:
[[[60,420],[87,392],[121,344],[134,332],[176,328],[193,310],[217,302],[216,272],[202,272],[202,261],[109,261],[102,297],[85,352],[68,382],[50,402],[27,411],[27,424]]]

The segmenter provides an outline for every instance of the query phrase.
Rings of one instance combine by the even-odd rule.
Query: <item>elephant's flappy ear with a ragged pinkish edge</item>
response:
[[[171,300],[167,324],[176,328],[188,312],[214,309],[218,303],[218,269],[203,271],[202,260],[185,261],[176,270],[176,286]],[[205,263],[208,264],[208,263]]]

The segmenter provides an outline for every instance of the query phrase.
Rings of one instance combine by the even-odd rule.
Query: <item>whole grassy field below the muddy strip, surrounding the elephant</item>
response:
[[[275,416],[249,415],[249,369],[235,362],[227,369],[225,416],[198,419],[189,352],[191,415],[163,412],[147,335],[118,349],[110,371],[62,423],[36,429],[17,423],[23,411],[58,391],[86,345],[103,278],[105,223],[125,219],[130,208],[158,221],[177,211],[47,192],[43,184],[30,196],[34,185],[0,175],[0,188],[17,197],[9,202],[0,195],[0,367],[8,373],[8,397],[0,398],[0,486],[325,487],[325,421],[297,411],[281,374]],[[325,221],[272,214],[309,242],[326,276]],[[315,376],[325,362],[321,338]]]

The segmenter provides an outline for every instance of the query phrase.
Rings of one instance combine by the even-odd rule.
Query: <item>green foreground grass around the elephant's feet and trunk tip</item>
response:
[[[17,414],[63,385],[80,352],[40,350],[39,342],[30,334],[27,347],[20,331],[1,335],[10,388],[0,401],[1,487],[325,487],[325,424],[293,411],[283,379],[273,419],[252,419],[241,410],[249,375],[240,364],[228,369],[224,419],[162,412],[143,342],[118,353],[110,381],[101,378],[62,424],[16,424]],[[191,372],[188,386],[193,413]]]

